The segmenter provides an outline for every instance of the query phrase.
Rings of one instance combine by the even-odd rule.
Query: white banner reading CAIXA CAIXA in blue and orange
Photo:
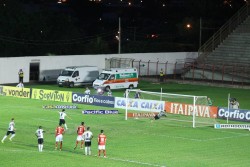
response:
[[[128,110],[139,110],[148,112],[160,112],[165,108],[164,101],[144,100],[144,99],[128,99]],[[126,109],[126,98],[115,97],[115,108]]]

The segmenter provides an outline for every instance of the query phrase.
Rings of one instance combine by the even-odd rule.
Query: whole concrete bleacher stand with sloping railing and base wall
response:
[[[183,78],[250,83],[250,5],[243,6],[198,51]]]

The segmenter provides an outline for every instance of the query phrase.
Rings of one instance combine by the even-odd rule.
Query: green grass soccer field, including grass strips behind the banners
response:
[[[49,85],[32,85],[44,89],[56,89]],[[143,90],[159,90],[180,94],[208,95],[217,106],[226,106],[227,94],[240,99],[241,106],[250,108],[247,96],[249,90],[216,88],[194,85],[144,83]],[[59,88],[67,89],[67,88]],[[75,88],[71,91],[82,91]],[[122,96],[122,91],[113,95]],[[191,123],[179,123],[168,118],[151,122],[149,119],[124,120],[124,111],[114,115],[83,115],[82,110],[110,109],[77,104],[79,109],[66,109],[72,118],[67,119],[69,130],[64,135],[63,150],[55,151],[54,131],[58,125],[57,109],[43,109],[43,105],[66,105],[67,103],[20,99],[0,96],[0,138],[15,118],[16,136],[13,141],[6,139],[0,143],[0,166],[52,167],[52,166],[173,166],[173,167],[228,167],[249,166],[250,154],[248,130],[219,130],[213,127],[191,128]],[[72,105],[72,104],[68,104]],[[92,156],[83,155],[83,150],[74,150],[77,137],[76,128],[84,121],[94,134]],[[223,120],[219,120],[224,122]],[[46,131],[44,151],[38,152],[35,131],[38,126]],[[107,135],[107,158],[96,157],[97,135],[104,129]]]

